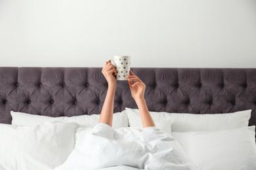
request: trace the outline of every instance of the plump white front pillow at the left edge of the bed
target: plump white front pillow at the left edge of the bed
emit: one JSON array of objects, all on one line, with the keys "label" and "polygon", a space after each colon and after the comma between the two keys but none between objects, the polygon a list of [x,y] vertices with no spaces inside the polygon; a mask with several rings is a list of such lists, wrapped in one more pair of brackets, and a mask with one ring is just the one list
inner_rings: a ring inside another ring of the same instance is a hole
[{"label": "plump white front pillow at the left edge of the bed", "polygon": [[76,123],[0,124],[0,169],[53,170],[75,147]]}]

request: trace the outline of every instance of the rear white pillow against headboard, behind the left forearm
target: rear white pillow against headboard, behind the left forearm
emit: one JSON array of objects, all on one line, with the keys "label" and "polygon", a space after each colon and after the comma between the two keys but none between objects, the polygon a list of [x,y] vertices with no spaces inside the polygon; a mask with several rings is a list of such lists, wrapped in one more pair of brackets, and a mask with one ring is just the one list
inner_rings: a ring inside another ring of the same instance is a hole
[{"label": "rear white pillow against headboard, behind the left forearm", "polygon": [[[96,124],[98,124],[98,120],[100,119],[100,114],[81,115],[72,117],[62,116],[54,118],[51,116],[41,116],[14,111],[11,111],[11,116],[12,124],[24,126],[35,126],[38,124],[42,124],[44,122],[58,120],[62,122],[77,122],[77,124],[79,124],[82,127],[94,127],[96,126]],[[114,113],[112,126],[114,128],[128,127],[128,117],[126,112]]]}]

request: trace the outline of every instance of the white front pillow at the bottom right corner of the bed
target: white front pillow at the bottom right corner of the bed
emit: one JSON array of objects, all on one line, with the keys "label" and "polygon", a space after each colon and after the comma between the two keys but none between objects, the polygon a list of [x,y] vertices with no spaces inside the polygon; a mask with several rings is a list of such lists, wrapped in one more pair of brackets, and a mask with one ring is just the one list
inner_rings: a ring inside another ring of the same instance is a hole
[{"label": "white front pillow at the bottom right corner of the bed", "polygon": [[256,169],[255,126],[172,135],[202,170]]}]

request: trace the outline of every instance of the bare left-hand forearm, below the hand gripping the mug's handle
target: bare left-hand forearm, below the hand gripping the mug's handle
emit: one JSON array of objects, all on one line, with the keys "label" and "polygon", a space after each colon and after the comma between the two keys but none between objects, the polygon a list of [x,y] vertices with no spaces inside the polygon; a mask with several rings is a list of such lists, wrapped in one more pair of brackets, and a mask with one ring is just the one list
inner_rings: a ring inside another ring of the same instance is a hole
[{"label": "bare left-hand forearm, below the hand gripping the mug's handle", "polygon": [[100,113],[99,123],[104,123],[112,126],[115,92],[116,84],[109,84],[104,105]]}]

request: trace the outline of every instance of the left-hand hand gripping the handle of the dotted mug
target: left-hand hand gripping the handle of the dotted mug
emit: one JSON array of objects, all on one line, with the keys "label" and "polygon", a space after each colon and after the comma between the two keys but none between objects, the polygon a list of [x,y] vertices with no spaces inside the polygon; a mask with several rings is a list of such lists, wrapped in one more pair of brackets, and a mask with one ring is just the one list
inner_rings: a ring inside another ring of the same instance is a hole
[{"label": "left-hand hand gripping the handle of the dotted mug", "polygon": [[116,67],[110,61],[104,63],[101,73],[105,76],[109,85],[116,85]]}]

